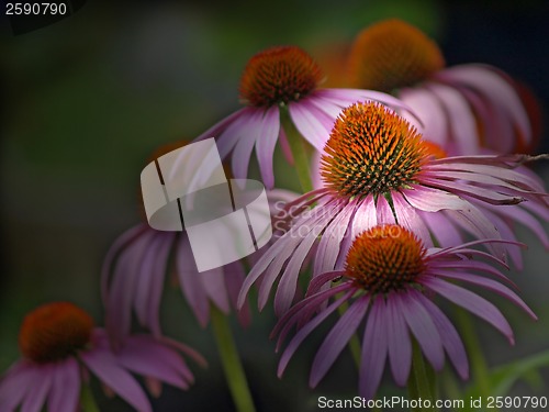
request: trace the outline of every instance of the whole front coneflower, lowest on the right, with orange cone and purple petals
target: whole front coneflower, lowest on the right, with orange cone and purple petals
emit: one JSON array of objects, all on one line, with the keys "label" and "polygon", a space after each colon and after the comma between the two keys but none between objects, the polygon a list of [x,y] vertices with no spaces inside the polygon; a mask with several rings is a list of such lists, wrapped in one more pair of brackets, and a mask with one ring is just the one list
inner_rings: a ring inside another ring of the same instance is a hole
[{"label": "whole front coneflower, lowest on the right, with orange cone and purple petals", "polygon": [[[279,335],[277,348],[293,326],[298,326],[281,356],[279,376],[306,336],[343,303],[348,303],[349,308],[316,353],[310,377],[312,387],[326,375],[357,332],[362,336],[358,382],[362,397],[374,397],[385,359],[389,359],[394,381],[400,386],[406,383],[412,365],[412,339],[418,343],[435,370],[441,370],[446,353],[458,375],[467,379],[469,366],[463,344],[450,320],[435,303],[436,296],[486,321],[511,344],[514,343],[513,332],[500,310],[464,286],[495,292],[536,319],[513,290],[492,278],[509,282],[500,270],[486,261],[464,257],[481,256],[503,264],[471,248],[477,243],[480,242],[427,249],[417,236],[399,225],[374,226],[359,234],[344,268],[323,271],[315,277],[306,298],[292,307],[276,325],[272,335]],[[362,324],[366,326],[360,332]]]}]

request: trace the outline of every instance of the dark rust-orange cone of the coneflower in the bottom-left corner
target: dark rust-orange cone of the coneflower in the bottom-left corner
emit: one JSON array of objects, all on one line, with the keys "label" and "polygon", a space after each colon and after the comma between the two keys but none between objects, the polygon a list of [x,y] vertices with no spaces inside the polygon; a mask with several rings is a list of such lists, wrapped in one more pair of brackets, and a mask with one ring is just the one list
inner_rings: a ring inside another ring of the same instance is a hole
[{"label": "dark rust-orange cone of the coneflower in the bottom-left corner", "polygon": [[38,363],[65,359],[89,343],[93,320],[69,302],[44,304],[23,320],[19,346],[26,358]]}]

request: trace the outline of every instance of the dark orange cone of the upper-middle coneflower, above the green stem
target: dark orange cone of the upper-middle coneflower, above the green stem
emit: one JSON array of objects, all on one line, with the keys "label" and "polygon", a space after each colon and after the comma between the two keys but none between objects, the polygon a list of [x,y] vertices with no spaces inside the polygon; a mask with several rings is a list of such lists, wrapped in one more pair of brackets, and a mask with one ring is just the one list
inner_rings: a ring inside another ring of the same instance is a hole
[{"label": "dark orange cone of the upper-middle coneflower, above the green stem", "polygon": [[323,74],[315,60],[295,46],[271,47],[256,54],[240,79],[240,99],[271,107],[296,101],[316,89]]}]

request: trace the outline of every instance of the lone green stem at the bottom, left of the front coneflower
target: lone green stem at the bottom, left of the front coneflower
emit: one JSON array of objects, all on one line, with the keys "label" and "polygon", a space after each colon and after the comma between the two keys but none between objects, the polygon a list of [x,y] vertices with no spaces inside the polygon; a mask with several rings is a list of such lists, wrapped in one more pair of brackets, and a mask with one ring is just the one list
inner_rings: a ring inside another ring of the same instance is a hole
[{"label": "lone green stem at the bottom, left of the front coneflower", "polygon": [[254,412],[254,401],[249,392],[244,368],[236,349],[228,319],[212,305],[212,327],[217,343],[225,379],[238,412]]}]

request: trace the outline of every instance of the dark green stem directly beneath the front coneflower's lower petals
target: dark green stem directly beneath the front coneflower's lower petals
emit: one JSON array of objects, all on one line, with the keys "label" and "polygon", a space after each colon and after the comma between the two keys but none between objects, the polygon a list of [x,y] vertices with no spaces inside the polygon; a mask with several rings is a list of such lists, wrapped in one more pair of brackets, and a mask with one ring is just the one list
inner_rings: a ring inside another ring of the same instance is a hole
[{"label": "dark green stem directly beneath the front coneflower's lower petals", "polygon": [[[413,341],[412,372],[408,378],[408,396],[411,400],[422,399],[423,408],[414,408],[414,411],[434,411],[436,401],[436,379],[433,368],[425,363],[419,345]],[[426,400],[430,401],[430,408],[426,407]]]}]

